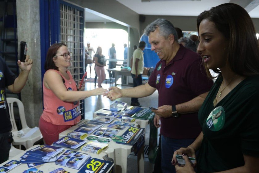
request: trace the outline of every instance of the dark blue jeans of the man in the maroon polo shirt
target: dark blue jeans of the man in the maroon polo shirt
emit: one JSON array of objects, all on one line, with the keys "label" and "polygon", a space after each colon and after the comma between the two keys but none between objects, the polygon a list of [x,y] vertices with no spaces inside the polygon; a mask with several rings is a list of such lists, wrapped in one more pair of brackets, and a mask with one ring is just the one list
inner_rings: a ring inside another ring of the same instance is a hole
[{"label": "dark blue jeans of the man in the maroon polo shirt", "polygon": [[186,148],[191,145],[194,140],[195,139],[172,139],[163,135],[161,136],[162,173],[175,173],[175,167],[171,163],[175,150],[181,147]]}]

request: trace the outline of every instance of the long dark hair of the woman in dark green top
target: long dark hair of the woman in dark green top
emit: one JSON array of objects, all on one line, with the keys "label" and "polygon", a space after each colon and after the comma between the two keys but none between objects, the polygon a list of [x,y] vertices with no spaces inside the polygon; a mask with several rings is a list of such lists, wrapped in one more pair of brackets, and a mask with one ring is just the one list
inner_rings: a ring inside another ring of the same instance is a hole
[{"label": "long dark hair of the woman in dark green top", "polygon": [[[216,28],[228,39],[227,61],[230,69],[241,76],[259,74],[259,45],[253,21],[244,8],[225,3],[202,12],[197,19],[197,28],[202,20],[215,23]],[[208,77],[212,78],[206,65]],[[219,69],[212,69],[220,73]]]}]

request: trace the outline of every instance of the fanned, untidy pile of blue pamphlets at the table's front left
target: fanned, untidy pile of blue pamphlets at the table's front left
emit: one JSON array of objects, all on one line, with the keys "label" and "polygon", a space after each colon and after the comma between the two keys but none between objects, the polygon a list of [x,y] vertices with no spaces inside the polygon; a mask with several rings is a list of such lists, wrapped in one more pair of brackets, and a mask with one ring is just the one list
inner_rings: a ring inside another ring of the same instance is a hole
[{"label": "fanned, untidy pile of blue pamphlets at the table's front left", "polygon": [[20,158],[22,163],[43,163],[43,162],[53,162],[56,160],[56,155],[61,153],[64,148],[41,145],[32,150],[27,151]]}]

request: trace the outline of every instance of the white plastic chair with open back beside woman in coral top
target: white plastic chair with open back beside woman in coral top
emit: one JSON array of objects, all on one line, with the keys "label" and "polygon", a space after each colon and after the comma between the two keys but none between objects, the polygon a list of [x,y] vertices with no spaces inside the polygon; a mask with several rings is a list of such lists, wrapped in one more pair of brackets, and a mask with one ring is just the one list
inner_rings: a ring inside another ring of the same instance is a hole
[{"label": "white plastic chair with open back beside woman in coral top", "polygon": [[[16,98],[11,98],[11,97],[7,97],[6,100],[7,100],[7,104],[9,107],[9,115],[10,115],[10,120],[11,120],[11,124],[12,124],[12,133],[13,133],[13,139],[14,139],[13,144],[14,145],[23,145],[26,149],[28,149],[28,148],[32,147],[36,141],[39,141],[40,139],[42,139],[43,136],[40,133],[40,130],[38,129],[30,137],[26,137],[26,138],[17,137],[18,129],[17,129],[15,120],[14,120],[14,103],[16,103],[18,105],[23,132],[26,134],[27,132],[29,132],[31,130],[31,128],[29,128],[26,123],[24,106],[23,106],[23,103],[21,102],[21,100],[16,99]],[[21,149],[21,146],[20,146],[20,149]]]}]

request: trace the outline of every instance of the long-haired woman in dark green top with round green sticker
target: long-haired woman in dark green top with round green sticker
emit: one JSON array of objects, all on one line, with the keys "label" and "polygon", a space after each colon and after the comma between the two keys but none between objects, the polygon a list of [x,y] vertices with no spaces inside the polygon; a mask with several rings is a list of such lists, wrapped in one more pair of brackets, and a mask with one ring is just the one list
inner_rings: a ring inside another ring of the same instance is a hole
[{"label": "long-haired woman in dark green top with round green sticker", "polygon": [[[219,75],[198,113],[202,132],[175,151],[172,163],[178,173],[195,172],[187,156],[199,150],[196,172],[259,172],[259,45],[253,22],[241,6],[227,3],[201,13],[197,27],[207,74],[212,78],[212,69]],[[183,155],[184,167],[176,154]]]}]

